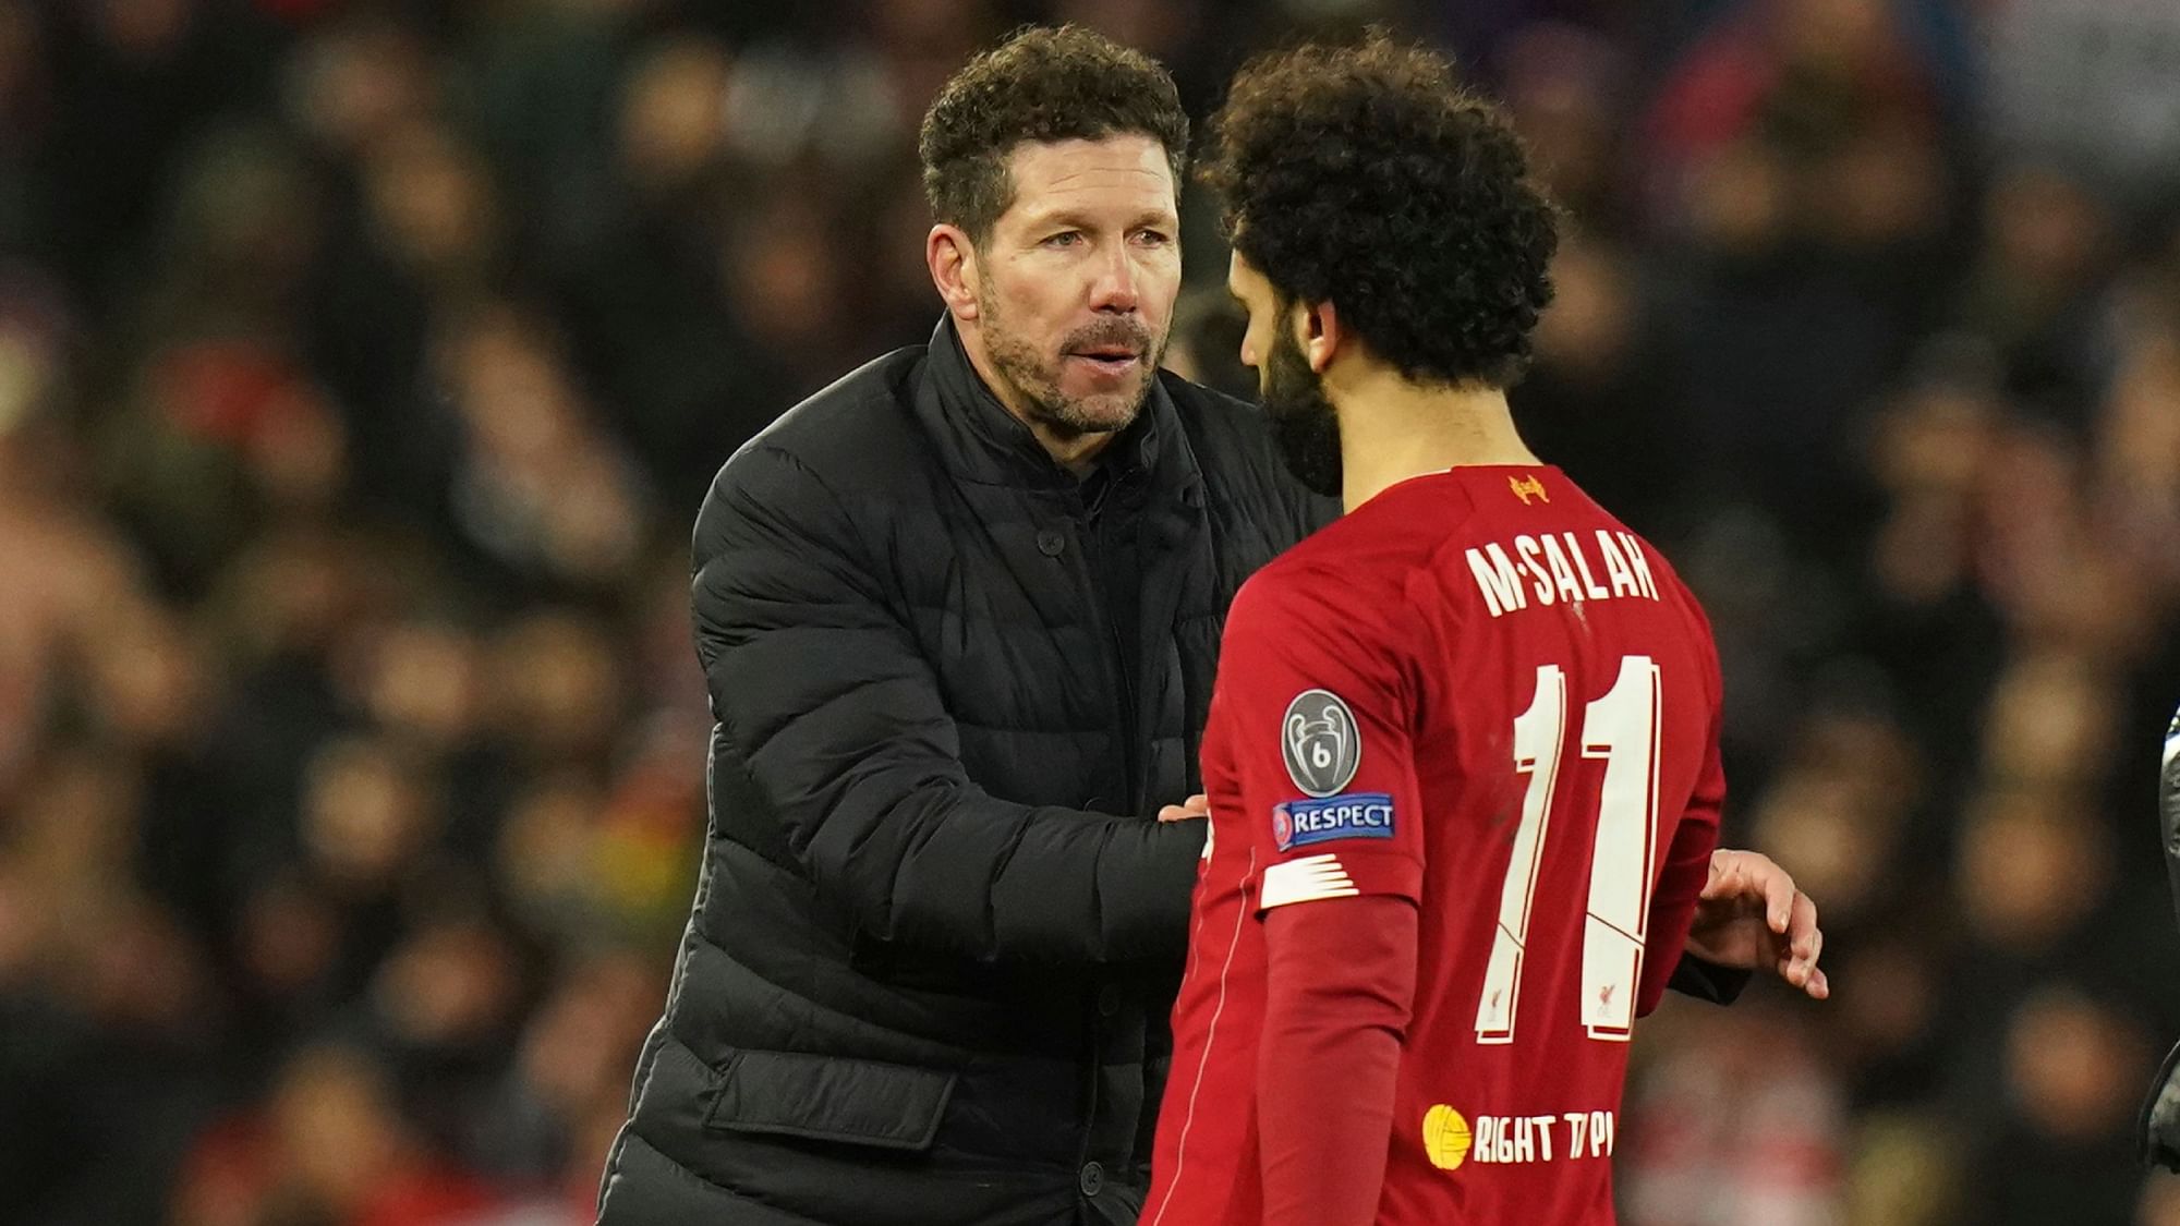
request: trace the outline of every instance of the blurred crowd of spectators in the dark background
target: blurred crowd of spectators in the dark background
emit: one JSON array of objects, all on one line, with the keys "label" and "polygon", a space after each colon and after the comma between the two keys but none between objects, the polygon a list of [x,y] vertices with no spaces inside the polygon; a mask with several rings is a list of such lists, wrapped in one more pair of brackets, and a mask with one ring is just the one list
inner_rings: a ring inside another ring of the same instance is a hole
[{"label": "blurred crowd of spectators in the dark background", "polygon": [[0,1219],[589,1219],[689,521],[929,336],[916,120],[1022,20],[1199,116],[1391,22],[1567,205],[1517,414],[1705,598],[1836,984],[1655,1019],[1626,1222],[2180,1224],[2169,0],[0,0]]}]

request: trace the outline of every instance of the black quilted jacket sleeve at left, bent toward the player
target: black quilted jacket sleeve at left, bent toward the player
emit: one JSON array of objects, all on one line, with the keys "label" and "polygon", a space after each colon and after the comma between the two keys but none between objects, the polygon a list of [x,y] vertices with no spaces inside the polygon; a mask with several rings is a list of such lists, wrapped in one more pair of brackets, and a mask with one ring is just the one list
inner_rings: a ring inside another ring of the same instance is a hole
[{"label": "black quilted jacket sleeve at left, bent toward the player", "polygon": [[713,716],[818,890],[931,953],[1179,960],[1201,822],[988,796],[879,574],[824,482],[763,443],[698,517]]}]

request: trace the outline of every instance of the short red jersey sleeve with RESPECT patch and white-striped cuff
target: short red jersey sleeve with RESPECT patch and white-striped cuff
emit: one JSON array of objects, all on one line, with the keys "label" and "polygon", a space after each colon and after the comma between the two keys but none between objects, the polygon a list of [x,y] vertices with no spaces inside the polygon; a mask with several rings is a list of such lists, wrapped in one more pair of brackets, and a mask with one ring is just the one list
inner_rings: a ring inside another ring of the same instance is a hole
[{"label": "short red jersey sleeve with RESPECT patch and white-striped cuff", "polygon": [[1232,833],[1264,866],[1260,914],[1358,894],[1419,901],[1424,888],[1417,652],[1400,624],[1341,600],[1334,582],[1269,572],[1227,617],[1221,705],[1243,827]]}]

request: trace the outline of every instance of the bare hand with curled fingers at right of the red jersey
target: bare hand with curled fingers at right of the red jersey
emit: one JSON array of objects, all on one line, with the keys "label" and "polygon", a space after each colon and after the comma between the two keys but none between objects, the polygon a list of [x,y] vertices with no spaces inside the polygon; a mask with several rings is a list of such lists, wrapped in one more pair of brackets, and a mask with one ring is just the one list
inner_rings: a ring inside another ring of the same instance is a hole
[{"label": "bare hand with curled fingers at right of the red jersey", "polygon": [[1794,888],[1785,868],[1757,851],[1711,853],[1711,879],[1696,903],[1687,951],[1742,971],[1768,966],[1818,1001],[1831,995],[1831,982],[1816,966],[1825,951],[1816,903]]}]

